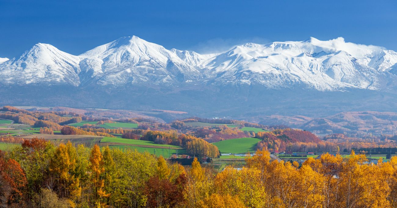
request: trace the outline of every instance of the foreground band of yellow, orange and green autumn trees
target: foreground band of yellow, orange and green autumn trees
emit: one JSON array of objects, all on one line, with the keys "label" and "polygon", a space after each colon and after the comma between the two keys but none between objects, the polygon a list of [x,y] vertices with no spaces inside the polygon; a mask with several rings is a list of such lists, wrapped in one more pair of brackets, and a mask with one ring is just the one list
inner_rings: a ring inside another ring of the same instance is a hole
[{"label": "foreground band of yellow, orange and green autumn trees", "polygon": [[397,206],[397,157],[324,154],[297,162],[256,151],[216,173],[137,151],[42,139],[0,152],[1,207],[361,208]]}]

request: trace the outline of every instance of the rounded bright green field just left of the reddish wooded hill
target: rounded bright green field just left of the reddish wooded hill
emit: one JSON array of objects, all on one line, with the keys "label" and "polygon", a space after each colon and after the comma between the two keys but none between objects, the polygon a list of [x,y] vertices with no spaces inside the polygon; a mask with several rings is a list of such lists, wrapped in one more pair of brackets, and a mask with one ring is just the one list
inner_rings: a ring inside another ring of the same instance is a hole
[{"label": "rounded bright green field just left of the reddish wooded hill", "polygon": [[254,153],[256,150],[256,143],[261,139],[257,138],[239,138],[239,139],[227,139],[212,143],[217,146],[221,153]]}]

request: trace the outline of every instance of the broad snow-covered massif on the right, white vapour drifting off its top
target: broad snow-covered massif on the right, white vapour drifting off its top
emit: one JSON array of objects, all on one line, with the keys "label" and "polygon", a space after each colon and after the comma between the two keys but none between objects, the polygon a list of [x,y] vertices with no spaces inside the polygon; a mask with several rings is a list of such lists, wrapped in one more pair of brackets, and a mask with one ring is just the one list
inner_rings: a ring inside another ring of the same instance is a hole
[{"label": "broad snow-covered massif on the right, white vapour drifting off its top", "polygon": [[214,83],[257,83],[268,88],[298,85],[316,90],[380,90],[397,53],[377,46],[320,41],[248,43],[206,60]]}]

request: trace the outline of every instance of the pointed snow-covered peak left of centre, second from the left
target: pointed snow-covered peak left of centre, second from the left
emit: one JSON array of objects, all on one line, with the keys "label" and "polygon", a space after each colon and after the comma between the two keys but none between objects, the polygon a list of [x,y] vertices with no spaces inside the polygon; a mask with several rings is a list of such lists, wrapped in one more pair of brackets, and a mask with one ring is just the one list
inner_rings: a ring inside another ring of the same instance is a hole
[{"label": "pointed snow-covered peak left of centre, second from the left", "polygon": [[81,80],[100,85],[175,84],[200,74],[175,53],[137,36],[119,38],[79,57]]}]

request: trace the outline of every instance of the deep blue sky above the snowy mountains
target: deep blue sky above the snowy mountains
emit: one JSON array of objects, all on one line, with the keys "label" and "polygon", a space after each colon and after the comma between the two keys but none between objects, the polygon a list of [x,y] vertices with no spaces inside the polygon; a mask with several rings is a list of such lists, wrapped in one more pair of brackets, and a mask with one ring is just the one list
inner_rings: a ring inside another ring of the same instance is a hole
[{"label": "deep blue sky above the snowy mountains", "polygon": [[397,51],[396,1],[0,0],[0,57],[38,42],[78,55],[121,36],[220,52],[245,42],[329,40]]}]

